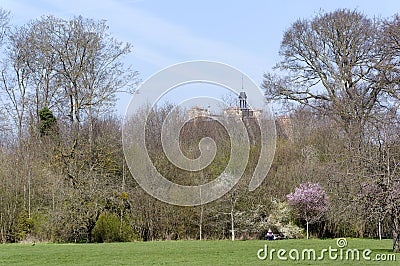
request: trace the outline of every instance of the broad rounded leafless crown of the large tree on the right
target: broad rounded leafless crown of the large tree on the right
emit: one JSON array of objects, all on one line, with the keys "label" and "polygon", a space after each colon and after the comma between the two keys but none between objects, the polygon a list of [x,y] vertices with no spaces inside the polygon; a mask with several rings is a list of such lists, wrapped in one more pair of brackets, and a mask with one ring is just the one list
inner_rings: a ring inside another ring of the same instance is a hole
[{"label": "broad rounded leafless crown of the large tree on the right", "polygon": [[361,135],[383,94],[374,82],[385,62],[379,31],[379,21],[346,9],[297,20],[284,33],[276,65],[287,75],[264,75],[267,97],[308,105]]}]

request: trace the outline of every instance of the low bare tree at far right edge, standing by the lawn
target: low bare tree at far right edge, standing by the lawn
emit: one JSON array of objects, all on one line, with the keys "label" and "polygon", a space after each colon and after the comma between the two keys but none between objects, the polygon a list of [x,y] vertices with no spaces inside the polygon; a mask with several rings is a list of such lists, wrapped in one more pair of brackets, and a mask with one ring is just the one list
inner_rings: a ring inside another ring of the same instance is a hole
[{"label": "low bare tree at far right edge, standing by the lawn", "polygon": [[396,112],[384,113],[369,126],[369,149],[360,154],[368,173],[360,190],[361,206],[372,220],[381,223],[388,217],[393,235],[393,251],[399,252],[400,238],[400,144],[397,137],[399,117]]}]

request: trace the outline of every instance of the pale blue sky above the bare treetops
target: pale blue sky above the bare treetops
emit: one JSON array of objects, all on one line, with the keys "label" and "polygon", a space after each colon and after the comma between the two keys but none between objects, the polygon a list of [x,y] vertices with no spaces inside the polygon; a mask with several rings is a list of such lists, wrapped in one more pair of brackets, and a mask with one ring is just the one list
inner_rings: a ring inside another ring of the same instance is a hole
[{"label": "pale blue sky above the bare treetops", "polygon": [[[369,17],[400,13],[398,0],[0,0],[0,7],[11,12],[13,25],[43,15],[105,19],[115,38],[132,43],[124,62],[139,71],[142,81],[173,64],[211,60],[239,69],[256,84],[279,61],[283,33],[297,19],[339,8]],[[119,95],[118,113],[129,100]]]}]

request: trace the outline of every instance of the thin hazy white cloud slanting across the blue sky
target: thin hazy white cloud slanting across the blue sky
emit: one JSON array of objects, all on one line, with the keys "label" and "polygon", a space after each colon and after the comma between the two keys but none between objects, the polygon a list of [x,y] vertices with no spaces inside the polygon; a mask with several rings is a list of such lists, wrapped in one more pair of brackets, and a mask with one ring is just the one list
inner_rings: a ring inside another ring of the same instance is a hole
[{"label": "thin hazy white cloud slanting across the blue sky", "polygon": [[[135,57],[157,69],[181,61],[207,59],[232,64],[245,71],[256,71],[257,75],[262,75],[261,66],[265,62],[251,51],[209,39],[207,36],[196,35],[190,28],[157,17],[135,6],[136,3],[115,0],[43,0],[39,2],[34,16],[37,16],[39,8],[43,13],[54,11],[54,15],[64,18],[82,15],[106,19],[113,35],[133,43]],[[24,2],[25,4],[27,3]]]}]

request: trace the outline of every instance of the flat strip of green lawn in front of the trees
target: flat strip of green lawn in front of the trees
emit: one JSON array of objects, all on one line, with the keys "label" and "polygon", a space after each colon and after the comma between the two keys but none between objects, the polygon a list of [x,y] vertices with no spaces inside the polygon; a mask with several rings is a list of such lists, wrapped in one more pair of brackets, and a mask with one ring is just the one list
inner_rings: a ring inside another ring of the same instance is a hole
[{"label": "flat strip of green lawn in front of the trees", "polygon": [[[347,239],[346,249],[371,249],[376,254],[393,254],[391,240]],[[315,249],[317,256],[324,248],[338,248],[336,240],[280,241],[163,241],[105,244],[6,244],[0,245],[0,265],[398,265],[395,262],[330,260],[281,261],[276,252],[273,260],[260,260],[257,251],[267,244],[271,249]],[[301,254],[301,253],[300,253]],[[268,254],[269,255],[269,254]],[[286,256],[288,254],[286,253]],[[301,256],[301,255],[300,255]]]}]

